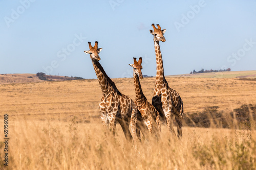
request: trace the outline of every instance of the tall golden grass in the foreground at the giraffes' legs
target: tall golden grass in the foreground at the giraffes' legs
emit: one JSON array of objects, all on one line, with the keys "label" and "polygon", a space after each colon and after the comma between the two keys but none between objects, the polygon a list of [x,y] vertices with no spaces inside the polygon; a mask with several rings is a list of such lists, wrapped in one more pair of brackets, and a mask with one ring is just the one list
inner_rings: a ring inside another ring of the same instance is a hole
[{"label": "tall golden grass in the foreground at the giraffes' legs", "polygon": [[[130,143],[120,128],[115,138],[99,121],[10,122],[10,169],[255,169],[254,130],[183,128],[183,138],[162,128],[153,137]],[[3,158],[3,144],[1,145]],[[3,163],[1,168],[3,168]]]}]

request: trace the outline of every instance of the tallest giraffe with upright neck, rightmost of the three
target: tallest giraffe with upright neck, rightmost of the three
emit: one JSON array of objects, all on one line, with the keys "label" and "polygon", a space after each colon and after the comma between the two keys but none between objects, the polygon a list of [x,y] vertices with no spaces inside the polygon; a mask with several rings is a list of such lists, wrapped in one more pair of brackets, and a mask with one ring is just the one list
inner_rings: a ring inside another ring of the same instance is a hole
[{"label": "tallest giraffe with upright neck, rightmost of the three", "polygon": [[163,34],[166,29],[161,30],[161,27],[157,25],[155,27],[152,24],[154,31],[150,30],[150,33],[154,36],[155,43],[155,53],[157,61],[157,74],[154,86],[154,94],[152,98],[152,105],[158,110],[161,117],[163,117],[164,122],[167,123],[167,129],[169,133],[175,134],[173,128],[173,118],[177,123],[178,137],[182,137],[182,119],[183,119],[183,102],[178,91],[169,87],[163,72],[163,60],[160,51],[159,41],[164,42],[165,38]]}]

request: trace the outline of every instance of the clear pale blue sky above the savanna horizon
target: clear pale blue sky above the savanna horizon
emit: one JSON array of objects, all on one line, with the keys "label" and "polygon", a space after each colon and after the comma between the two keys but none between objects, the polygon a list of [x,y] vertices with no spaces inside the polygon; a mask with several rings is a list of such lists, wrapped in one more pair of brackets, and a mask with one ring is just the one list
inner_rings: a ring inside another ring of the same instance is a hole
[{"label": "clear pale blue sky above the savanna horizon", "polygon": [[152,23],[159,23],[165,75],[255,70],[256,1],[0,1],[0,74],[46,72],[96,78],[88,41],[110,78],[156,75]]}]

